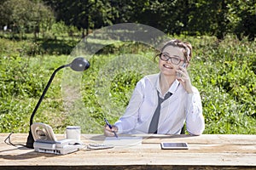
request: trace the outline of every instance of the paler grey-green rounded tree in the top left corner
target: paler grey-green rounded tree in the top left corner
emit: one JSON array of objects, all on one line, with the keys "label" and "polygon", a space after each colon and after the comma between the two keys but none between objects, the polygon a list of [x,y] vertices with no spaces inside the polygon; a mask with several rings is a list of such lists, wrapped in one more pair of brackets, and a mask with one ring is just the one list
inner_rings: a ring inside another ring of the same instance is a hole
[{"label": "paler grey-green rounded tree in the top left corner", "polygon": [[33,32],[38,37],[40,29],[49,28],[54,15],[43,3],[33,3],[29,0],[7,0],[0,5],[2,25],[7,24],[14,33]]}]

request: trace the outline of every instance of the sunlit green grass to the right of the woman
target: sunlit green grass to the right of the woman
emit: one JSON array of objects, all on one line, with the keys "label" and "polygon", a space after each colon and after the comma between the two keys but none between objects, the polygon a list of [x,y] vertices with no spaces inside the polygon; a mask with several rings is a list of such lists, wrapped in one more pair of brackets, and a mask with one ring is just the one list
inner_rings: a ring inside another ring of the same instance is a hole
[{"label": "sunlit green grass to the right of the woman", "polygon": [[255,42],[225,37],[203,43],[189,71],[201,91],[206,133],[255,133]]}]

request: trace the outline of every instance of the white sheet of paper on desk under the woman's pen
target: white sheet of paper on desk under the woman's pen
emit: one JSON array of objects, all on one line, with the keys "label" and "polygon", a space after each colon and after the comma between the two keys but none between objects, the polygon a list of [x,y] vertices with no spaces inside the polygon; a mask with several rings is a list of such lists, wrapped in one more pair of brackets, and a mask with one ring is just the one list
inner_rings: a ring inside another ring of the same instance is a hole
[{"label": "white sheet of paper on desk under the woman's pen", "polygon": [[106,137],[103,144],[113,144],[114,146],[142,145],[143,137]]}]

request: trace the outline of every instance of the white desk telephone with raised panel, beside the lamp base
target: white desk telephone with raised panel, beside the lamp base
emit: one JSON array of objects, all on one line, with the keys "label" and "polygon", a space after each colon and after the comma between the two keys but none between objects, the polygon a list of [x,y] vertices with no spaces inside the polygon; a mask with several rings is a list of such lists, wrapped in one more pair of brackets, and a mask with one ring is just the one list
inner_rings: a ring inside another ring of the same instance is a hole
[{"label": "white desk telephone with raised panel, beside the lamp base", "polygon": [[76,139],[57,140],[52,127],[48,124],[35,122],[32,124],[31,129],[35,140],[33,144],[35,151],[65,155],[84,148],[84,144]]}]

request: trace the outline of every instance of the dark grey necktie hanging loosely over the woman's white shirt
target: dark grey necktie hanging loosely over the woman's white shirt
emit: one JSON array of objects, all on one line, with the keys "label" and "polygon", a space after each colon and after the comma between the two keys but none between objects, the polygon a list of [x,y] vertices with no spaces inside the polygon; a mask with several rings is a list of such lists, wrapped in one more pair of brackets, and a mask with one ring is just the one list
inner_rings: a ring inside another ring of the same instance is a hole
[{"label": "dark grey necktie hanging loosely over the woman's white shirt", "polygon": [[165,95],[165,99],[161,99],[160,96],[159,96],[159,91],[157,91],[158,105],[157,105],[157,107],[154,111],[154,116],[152,117],[152,120],[150,122],[150,125],[149,125],[149,128],[148,128],[148,133],[157,133],[161,104],[163,103],[163,101],[168,99],[171,95],[172,95],[172,93],[168,92]]}]

